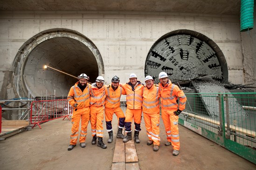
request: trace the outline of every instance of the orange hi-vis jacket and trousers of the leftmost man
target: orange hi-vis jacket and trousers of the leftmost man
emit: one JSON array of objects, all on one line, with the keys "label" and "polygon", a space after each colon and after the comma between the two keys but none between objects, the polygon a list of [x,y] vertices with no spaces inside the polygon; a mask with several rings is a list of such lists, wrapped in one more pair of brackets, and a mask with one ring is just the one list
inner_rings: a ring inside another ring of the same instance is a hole
[{"label": "orange hi-vis jacket and trousers of the leftmost man", "polygon": [[68,94],[68,101],[69,104],[74,107],[77,103],[78,105],[76,108],[74,107],[73,115],[72,115],[72,128],[71,128],[71,135],[70,135],[70,144],[75,145],[77,138],[78,138],[78,131],[79,131],[79,123],[81,119],[81,131],[80,131],[80,138],[79,142],[85,142],[86,135],[87,135],[87,126],[90,120],[90,88],[91,85],[87,83],[83,92],[77,86],[79,82],[76,82],[73,85]]}]

